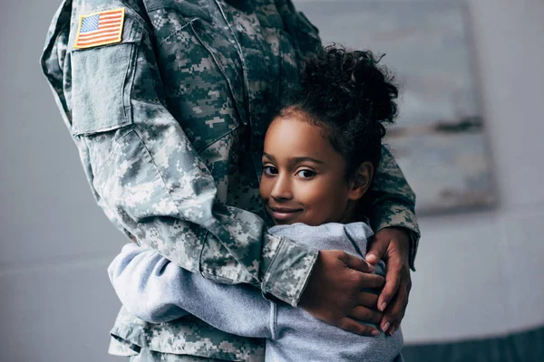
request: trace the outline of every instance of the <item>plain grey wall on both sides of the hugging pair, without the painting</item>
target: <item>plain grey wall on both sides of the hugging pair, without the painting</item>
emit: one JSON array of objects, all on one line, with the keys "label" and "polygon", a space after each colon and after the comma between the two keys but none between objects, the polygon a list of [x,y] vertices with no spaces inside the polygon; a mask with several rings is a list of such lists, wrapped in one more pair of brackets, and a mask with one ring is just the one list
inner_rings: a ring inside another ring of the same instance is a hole
[{"label": "plain grey wall on both sides of the hugging pair, without the painting", "polygon": [[[119,302],[105,268],[125,239],[94,204],[38,66],[57,5],[0,12],[0,360],[121,360],[106,354]],[[408,343],[544,324],[544,3],[469,5],[500,206],[421,220]]]}]

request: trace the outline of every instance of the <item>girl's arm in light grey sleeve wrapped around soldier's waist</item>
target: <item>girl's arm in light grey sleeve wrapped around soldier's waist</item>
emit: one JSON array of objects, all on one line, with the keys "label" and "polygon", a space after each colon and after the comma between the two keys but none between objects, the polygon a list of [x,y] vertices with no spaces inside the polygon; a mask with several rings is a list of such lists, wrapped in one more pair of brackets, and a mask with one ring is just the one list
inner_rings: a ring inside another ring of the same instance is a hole
[{"label": "girl's arm in light grey sleeve wrapped around soldier's waist", "polygon": [[249,285],[224,285],[170,262],[151,248],[126,244],[108,267],[119,299],[151,323],[192,314],[238,336],[275,338],[273,303]]}]

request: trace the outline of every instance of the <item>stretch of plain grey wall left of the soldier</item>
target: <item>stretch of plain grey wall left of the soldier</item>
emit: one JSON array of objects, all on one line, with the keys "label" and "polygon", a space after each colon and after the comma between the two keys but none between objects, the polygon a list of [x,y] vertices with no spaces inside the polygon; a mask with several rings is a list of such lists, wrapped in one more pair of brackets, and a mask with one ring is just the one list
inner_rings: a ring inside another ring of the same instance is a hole
[{"label": "stretch of plain grey wall left of the soldier", "polygon": [[[7,4],[5,4],[7,3]],[[108,361],[124,238],[94,204],[39,66],[58,0],[0,12],[0,361]]]}]

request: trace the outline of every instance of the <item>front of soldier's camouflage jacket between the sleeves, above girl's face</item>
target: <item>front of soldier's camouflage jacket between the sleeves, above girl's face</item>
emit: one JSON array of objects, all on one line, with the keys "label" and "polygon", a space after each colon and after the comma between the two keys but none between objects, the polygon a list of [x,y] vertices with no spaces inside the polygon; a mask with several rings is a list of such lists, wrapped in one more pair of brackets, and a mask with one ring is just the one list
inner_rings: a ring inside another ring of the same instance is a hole
[{"label": "front of soldier's camouflage jacket between the sleeves, above girl's face", "polygon": [[264,134],[296,83],[293,44],[273,3],[150,3],[168,107],[196,148],[240,126]]}]

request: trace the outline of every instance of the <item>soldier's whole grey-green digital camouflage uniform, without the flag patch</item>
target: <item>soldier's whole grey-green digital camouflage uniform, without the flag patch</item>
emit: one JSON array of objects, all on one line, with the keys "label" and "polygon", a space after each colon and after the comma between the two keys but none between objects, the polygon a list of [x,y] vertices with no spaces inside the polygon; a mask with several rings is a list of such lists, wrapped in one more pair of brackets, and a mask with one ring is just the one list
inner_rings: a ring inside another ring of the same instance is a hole
[{"label": "soldier's whole grey-green digital camouflage uniform, without the flag patch", "polygon": [[[80,15],[120,7],[120,43],[74,49]],[[251,283],[295,306],[316,252],[266,233],[258,176],[277,98],[296,86],[297,64],[320,46],[290,0],[64,0],[42,66],[113,224],[182,268]],[[374,230],[412,231],[412,265],[414,199],[385,151]],[[124,309],[110,350],[168,361],[260,361],[264,353],[261,340],[196,318],[151,325]]]}]

